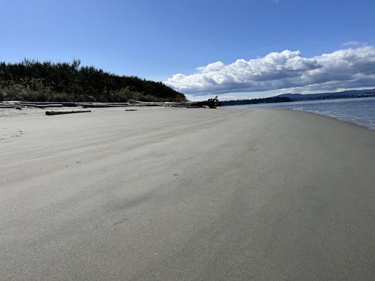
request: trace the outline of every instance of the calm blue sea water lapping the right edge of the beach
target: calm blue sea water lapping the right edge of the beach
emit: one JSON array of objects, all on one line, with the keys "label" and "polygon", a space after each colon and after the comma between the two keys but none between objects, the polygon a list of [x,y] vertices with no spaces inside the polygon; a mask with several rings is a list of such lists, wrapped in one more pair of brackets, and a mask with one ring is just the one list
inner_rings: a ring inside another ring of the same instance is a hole
[{"label": "calm blue sea water lapping the right edge of the beach", "polygon": [[[231,106],[233,108],[233,106]],[[349,121],[375,130],[375,98],[329,99],[319,101],[294,101],[292,103],[263,103],[256,105],[236,105],[235,108],[290,108],[322,114]]]}]

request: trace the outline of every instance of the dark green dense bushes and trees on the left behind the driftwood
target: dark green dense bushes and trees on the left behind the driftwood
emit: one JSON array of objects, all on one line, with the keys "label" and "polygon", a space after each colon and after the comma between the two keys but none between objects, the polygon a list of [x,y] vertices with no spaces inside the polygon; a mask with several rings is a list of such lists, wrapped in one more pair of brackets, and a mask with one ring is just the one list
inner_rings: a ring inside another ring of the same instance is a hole
[{"label": "dark green dense bushes and trees on the left behind the driftwood", "polygon": [[0,101],[186,101],[161,82],[72,62],[0,62]]}]

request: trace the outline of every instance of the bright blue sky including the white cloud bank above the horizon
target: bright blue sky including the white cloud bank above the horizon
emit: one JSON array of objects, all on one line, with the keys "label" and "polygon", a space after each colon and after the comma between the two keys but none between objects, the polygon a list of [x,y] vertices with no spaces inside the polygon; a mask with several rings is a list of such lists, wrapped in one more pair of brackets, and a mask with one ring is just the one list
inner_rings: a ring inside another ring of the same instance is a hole
[{"label": "bright blue sky including the white cloud bank above the horizon", "polygon": [[190,100],[375,88],[374,0],[0,0],[0,61],[71,62]]}]

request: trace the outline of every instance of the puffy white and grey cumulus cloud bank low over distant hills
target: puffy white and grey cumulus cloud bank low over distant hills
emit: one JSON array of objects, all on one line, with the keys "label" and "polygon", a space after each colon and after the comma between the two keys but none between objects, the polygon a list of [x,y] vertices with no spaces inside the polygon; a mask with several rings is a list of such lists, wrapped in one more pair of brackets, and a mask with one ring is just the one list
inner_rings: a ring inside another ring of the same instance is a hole
[{"label": "puffy white and grey cumulus cloud bank low over distant hills", "polygon": [[239,59],[230,65],[213,62],[191,75],[175,74],[165,84],[184,94],[226,94],[299,88],[335,90],[375,85],[375,48],[342,49],[313,58],[300,51]]}]

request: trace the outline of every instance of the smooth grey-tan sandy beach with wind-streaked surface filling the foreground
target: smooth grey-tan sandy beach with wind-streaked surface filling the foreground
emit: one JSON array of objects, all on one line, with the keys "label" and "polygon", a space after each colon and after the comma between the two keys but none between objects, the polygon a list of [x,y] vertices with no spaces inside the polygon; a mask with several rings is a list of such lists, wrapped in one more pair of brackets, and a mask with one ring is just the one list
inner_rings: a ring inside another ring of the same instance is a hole
[{"label": "smooth grey-tan sandy beach with wind-streaked surface filling the foreground", "polygon": [[0,280],[374,280],[374,167],[306,112],[0,117]]}]

